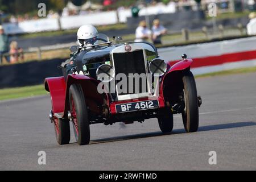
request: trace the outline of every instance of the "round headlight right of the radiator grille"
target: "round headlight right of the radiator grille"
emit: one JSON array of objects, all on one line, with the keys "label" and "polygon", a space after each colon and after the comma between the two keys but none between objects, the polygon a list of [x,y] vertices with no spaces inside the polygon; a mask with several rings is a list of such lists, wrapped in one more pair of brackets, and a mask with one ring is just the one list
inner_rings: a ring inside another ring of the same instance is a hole
[{"label": "round headlight right of the radiator grille", "polygon": [[153,76],[163,76],[167,71],[167,64],[162,59],[153,59],[148,65],[148,69]]}]

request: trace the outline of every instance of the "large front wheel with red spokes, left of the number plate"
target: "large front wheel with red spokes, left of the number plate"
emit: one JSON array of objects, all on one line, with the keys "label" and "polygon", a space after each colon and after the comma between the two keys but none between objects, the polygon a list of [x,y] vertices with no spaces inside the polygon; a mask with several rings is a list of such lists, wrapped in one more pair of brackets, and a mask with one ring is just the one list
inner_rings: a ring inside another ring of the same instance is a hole
[{"label": "large front wheel with red spokes, left of the number plate", "polygon": [[90,126],[81,85],[73,84],[69,88],[69,105],[77,143],[80,145],[89,144]]}]

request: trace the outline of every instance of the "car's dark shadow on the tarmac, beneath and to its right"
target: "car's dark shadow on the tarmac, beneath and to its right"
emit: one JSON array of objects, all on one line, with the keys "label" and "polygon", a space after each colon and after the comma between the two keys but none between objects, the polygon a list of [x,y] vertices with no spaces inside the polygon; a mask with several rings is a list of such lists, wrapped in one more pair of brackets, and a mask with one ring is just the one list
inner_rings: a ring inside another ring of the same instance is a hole
[{"label": "car's dark shadow on the tarmac, beneath and to its right", "polygon": [[[255,125],[256,125],[256,122],[250,121],[250,122],[225,123],[225,124],[220,124],[220,125],[200,126],[199,130],[197,132],[232,129],[232,128],[236,128],[236,127],[246,127],[246,126],[255,126]],[[160,137],[160,136],[164,136],[164,135],[174,135],[174,134],[182,134],[182,133],[185,133],[184,129],[173,130],[171,133],[162,133],[162,132],[158,131],[158,132],[135,134],[135,135],[125,135],[125,136],[121,136],[121,137],[110,137],[110,138],[96,139],[96,140],[91,140],[90,144],[117,142],[117,141],[121,141],[121,140],[138,139],[138,138]]]}]

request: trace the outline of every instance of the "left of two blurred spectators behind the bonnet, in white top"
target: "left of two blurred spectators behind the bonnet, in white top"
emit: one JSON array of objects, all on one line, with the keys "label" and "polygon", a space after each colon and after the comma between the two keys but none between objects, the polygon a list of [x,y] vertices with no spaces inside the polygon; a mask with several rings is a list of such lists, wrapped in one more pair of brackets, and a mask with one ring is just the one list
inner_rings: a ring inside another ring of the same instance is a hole
[{"label": "left of two blurred spectators behind the bonnet, in white top", "polygon": [[135,37],[135,42],[143,42],[147,39],[151,39],[151,31],[147,28],[145,20],[139,22],[139,27],[136,29]]}]

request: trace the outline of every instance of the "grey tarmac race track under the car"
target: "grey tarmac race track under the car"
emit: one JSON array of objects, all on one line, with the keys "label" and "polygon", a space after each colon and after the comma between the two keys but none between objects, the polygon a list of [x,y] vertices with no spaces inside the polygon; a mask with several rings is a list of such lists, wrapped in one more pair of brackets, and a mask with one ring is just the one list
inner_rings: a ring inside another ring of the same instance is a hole
[{"label": "grey tarmac race track under the car", "polygon": [[[49,96],[0,102],[0,169],[225,170],[256,169],[256,73],[197,78],[203,98],[197,133],[185,133],[180,115],[163,135],[156,119],[91,125],[88,146],[59,146],[49,122]],[[38,152],[46,152],[46,165]],[[209,151],[217,164],[210,165]]]}]

